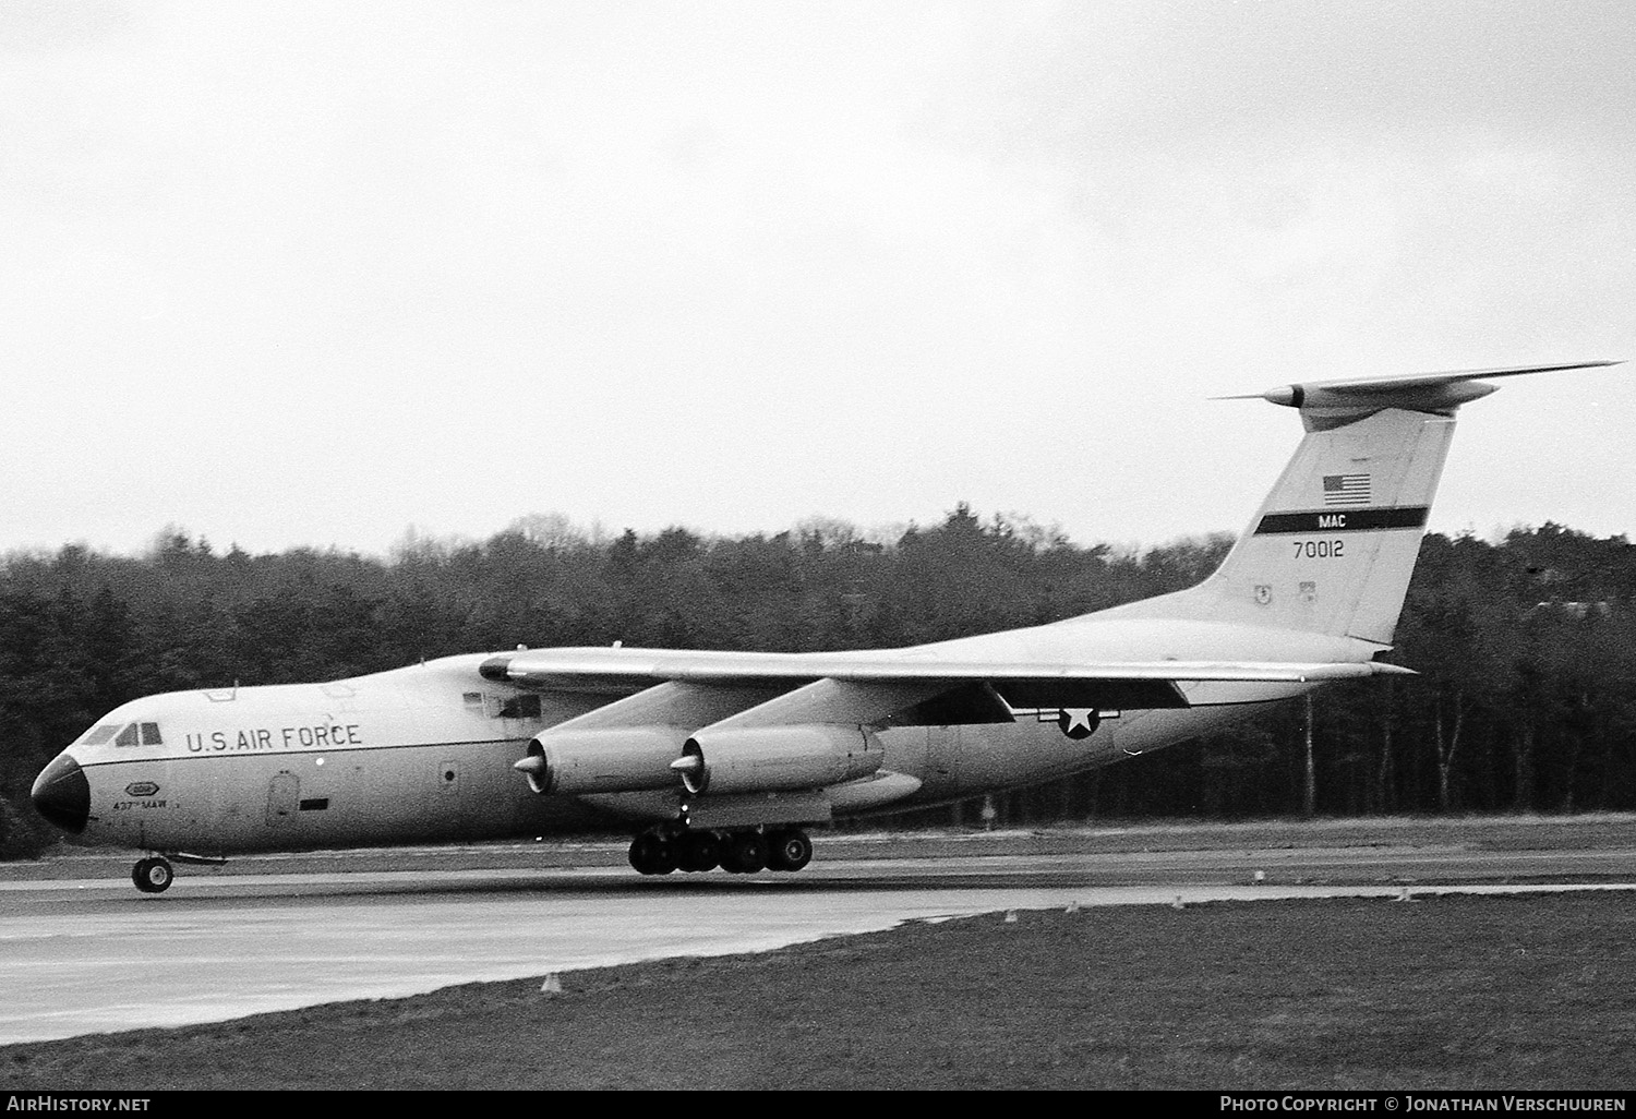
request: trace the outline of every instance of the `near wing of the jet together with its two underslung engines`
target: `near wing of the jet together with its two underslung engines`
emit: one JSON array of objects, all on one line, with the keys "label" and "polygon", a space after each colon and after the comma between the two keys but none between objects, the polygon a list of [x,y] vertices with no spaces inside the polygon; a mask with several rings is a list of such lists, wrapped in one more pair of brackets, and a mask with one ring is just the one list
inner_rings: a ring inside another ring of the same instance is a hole
[{"label": "near wing of the jet together with its two underslung engines", "polygon": [[524,649],[481,664],[489,681],[610,700],[533,736],[517,769],[535,792],[649,818],[671,813],[705,828],[828,820],[913,795],[918,777],[883,767],[877,731],[885,726],[1009,723],[1014,708],[1027,707],[1186,707],[1188,682],[1306,684],[1391,671],[1407,669],[1373,661],[960,661],[928,649]]}]

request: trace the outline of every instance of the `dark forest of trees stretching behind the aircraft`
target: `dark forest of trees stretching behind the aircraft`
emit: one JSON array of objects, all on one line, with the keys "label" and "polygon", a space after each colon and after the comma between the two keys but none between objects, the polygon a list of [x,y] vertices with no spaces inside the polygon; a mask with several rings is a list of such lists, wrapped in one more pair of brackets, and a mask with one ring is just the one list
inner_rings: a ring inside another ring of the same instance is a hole
[{"label": "dark forest of trees stretching behind the aircraft", "polygon": [[[484,542],[407,533],[384,558],[226,551],[167,528],[141,556],[83,545],[0,560],[0,857],[56,841],[38,771],[139,695],[326,681],[517,645],[890,648],[990,633],[1175,591],[1230,535],[1076,545],[959,506],[862,533],[586,530],[530,515]],[[1286,815],[1636,808],[1636,555],[1562,525],[1427,535],[1397,646],[1414,677],[1310,703],[1103,771],[993,798],[1000,825]],[[978,823],[982,802],[895,823]]]}]

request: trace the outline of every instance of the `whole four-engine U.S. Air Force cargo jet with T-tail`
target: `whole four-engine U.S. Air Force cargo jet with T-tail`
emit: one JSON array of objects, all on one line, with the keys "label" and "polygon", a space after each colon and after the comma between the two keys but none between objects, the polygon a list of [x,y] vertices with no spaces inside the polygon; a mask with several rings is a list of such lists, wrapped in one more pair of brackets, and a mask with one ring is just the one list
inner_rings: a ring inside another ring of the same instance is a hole
[{"label": "whole four-engine U.S. Air Force cargo jet with T-tail", "polygon": [[[641,874],[800,870],[807,828],[1029,785],[1194,738],[1378,659],[1459,406],[1613,362],[1289,384],[1294,458],[1188,591],[861,653],[519,648],[124,703],[33,787],[136,887],[227,854],[633,834]],[[1252,399],[1252,398],[1229,398]]]}]

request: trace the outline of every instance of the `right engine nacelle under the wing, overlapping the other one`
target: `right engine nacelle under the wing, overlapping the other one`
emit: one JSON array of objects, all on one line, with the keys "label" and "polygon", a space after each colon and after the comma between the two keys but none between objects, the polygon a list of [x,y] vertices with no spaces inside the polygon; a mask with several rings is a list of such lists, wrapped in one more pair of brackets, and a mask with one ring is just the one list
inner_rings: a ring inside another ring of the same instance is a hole
[{"label": "right engine nacelle under the wing, overlapping the other one", "polygon": [[700,731],[672,769],[690,793],[818,789],[880,769],[885,748],[862,726],[811,723]]}]

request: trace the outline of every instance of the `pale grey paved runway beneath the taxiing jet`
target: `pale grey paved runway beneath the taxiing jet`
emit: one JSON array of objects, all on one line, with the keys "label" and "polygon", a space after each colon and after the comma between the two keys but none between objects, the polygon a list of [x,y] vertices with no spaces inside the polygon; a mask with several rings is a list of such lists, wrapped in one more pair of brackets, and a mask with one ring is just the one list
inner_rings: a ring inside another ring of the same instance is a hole
[{"label": "pale grey paved runway beneath the taxiing jet", "polygon": [[[1636,852],[1625,846],[831,846],[833,856],[795,875],[663,879],[618,865],[617,844],[582,844],[553,865],[538,865],[540,851],[527,844],[398,856],[448,864],[465,852],[468,862],[497,864],[468,869],[324,869],[375,854],[249,859],[237,874],[183,870],[164,895],[136,893],[105,870],[69,877],[101,864],[69,861],[61,877],[49,875],[51,864],[29,864],[33,874],[0,875],[0,1044],[757,952],[996,910],[1636,888],[1628,882]],[[910,852],[895,854],[900,847]]]}]

